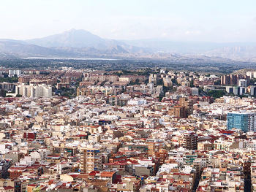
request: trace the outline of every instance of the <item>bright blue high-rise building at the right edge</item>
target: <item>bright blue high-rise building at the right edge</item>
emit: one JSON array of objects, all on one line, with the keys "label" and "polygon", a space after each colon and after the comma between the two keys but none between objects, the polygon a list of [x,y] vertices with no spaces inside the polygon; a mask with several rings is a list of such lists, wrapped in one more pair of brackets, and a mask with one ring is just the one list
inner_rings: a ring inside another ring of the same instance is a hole
[{"label": "bright blue high-rise building at the right edge", "polygon": [[230,112],[227,114],[227,129],[238,128],[241,131],[256,131],[255,112]]}]

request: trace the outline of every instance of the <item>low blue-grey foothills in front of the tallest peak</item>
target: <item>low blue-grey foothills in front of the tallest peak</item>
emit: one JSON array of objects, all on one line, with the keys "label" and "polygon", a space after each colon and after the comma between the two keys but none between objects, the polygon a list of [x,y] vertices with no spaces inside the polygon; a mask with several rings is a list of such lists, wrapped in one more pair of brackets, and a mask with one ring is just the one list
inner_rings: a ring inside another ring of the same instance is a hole
[{"label": "low blue-grey foothills in front of the tallest peak", "polygon": [[[114,41],[111,41],[114,42]],[[105,45],[106,46],[106,45]],[[23,58],[23,57],[99,57],[121,58],[132,57],[129,51],[140,51],[140,48],[115,45],[109,47],[42,47],[28,41],[12,39],[0,39],[0,58]],[[132,53],[134,54],[134,53]]]}]

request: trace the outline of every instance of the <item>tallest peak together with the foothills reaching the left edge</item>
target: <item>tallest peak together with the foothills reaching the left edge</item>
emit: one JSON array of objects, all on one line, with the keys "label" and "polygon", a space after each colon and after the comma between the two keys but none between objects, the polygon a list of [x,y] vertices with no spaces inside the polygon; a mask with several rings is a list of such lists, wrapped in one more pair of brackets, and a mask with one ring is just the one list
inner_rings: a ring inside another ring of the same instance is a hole
[{"label": "tallest peak together with the foothills reaching the left edge", "polygon": [[0,58],[9,57],[121,57],[145,53],[146,49],[113,39],[102,39],[89,31],[65,31],[24,41],[0,39]]}]

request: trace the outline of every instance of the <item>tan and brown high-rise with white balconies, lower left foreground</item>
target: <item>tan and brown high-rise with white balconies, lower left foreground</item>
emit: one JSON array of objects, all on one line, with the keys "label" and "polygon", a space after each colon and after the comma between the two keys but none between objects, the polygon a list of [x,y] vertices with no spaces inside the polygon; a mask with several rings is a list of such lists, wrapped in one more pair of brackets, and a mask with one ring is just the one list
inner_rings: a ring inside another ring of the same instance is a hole
[{"label": "tan and brown high-rise with white balconies, lower left foreground", "polygon": [[80,170],[90,173],[102,169],[102,147],[88,146],[81,149]]}]

